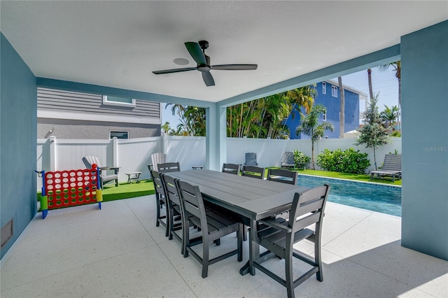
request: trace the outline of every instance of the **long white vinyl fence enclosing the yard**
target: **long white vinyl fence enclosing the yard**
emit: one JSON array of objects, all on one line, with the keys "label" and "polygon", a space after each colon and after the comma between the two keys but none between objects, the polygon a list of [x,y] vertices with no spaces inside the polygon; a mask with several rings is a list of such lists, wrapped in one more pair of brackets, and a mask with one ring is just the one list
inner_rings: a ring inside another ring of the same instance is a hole
[{"label": "long white vinyl fence enclosing the yard", "polygon": [[[377,148],[377,165],[383,162],[388,152],[401,153],[401,138],[392,138],[392,143]],[[342,150],[354,148],[367,152],[370,158],[370,171],[374,169],[373,150],[364,146],[353,146],[354,139],[321,139],[314,143],[314,155],[325,148]],[[299,150],[311,157],[310,140],[274,140],[274,139],[227,139],[227,162],[244,164],[246,152],[257,154],[258,166],[280,166],[283,152]],[[81,160],[86,155],[99,158],[101,166],[119,166],[118,180],[127,180],[125,173],[141,171],[141,178],[149,178],[148,164],[155,152],[165,152],[167,162],[180,162],[182,170],[192,169],[192,166],[205,165],[205,137],[196,136],[158,136],[141,139],[112,140],[71,140],[49,139],[37,140],[36,170],[63,171],[84,169]],[[38,190],[41,190],[41,179],[37,180]]]}]

